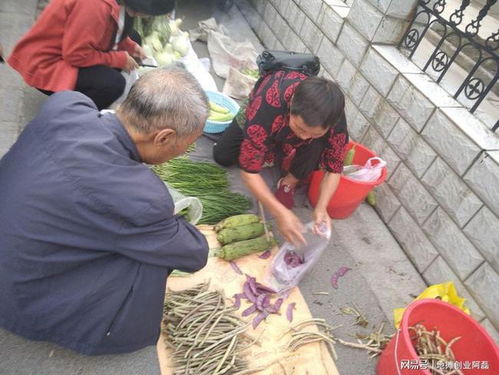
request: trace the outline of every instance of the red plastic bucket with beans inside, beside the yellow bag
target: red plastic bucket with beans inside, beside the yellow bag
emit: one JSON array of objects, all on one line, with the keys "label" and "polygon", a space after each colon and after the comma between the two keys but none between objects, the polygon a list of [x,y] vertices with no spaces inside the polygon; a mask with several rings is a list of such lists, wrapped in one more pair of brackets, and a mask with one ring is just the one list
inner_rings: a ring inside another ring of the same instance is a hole
[{"label": "red plastic bucket with beans inside, beside the yellow bag", "polygon": [[[381,353],[378,375],[431,375],[429,370],[417,368],[422,366],[409,335],[409,327],[417,323],[428,330],[437,329],[446,342],[461,337],[452,345],[452,350],[457,363],[463,365],[463,374],[499,374],[499,348],[481,325],[447,302],[422,299],[412,302],[405,310],[400,329]],[[411,361],[416,368],[407,368]],[[468,365],[475,368],[464,369]]]}]

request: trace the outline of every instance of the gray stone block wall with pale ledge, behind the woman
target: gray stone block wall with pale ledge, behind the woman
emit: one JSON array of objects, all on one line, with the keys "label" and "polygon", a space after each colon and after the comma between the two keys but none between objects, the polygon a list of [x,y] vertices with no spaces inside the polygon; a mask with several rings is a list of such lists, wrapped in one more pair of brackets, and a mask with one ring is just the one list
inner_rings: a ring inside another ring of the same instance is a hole
[{"label": "gray stone block wall with pale ledge, behind the woman", "polygon": [[454,281],[498,340],[499,138],[394,46],[416,1],[235,3],[267,48],[320,57],[352,139],[388,162],[381,219],[426,282]]}]

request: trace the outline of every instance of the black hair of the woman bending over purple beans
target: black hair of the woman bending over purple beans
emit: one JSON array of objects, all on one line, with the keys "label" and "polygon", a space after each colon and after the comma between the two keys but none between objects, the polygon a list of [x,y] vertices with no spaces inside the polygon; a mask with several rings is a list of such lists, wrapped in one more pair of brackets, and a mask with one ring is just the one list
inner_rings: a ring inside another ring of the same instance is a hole
[{"label": "black hair of the woman bending over purple beans", "polygon": [[310,77],[296,87],[291,114],[301,116],[308,126],[329,129],[343,114],[345,96],[339,86],[325,78]]}]

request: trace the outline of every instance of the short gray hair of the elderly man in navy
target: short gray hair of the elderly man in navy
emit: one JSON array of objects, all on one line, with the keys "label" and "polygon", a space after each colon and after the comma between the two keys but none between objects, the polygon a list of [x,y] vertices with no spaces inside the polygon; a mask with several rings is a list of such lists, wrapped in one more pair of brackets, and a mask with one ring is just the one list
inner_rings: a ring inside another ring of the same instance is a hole
[{"label": "short gray hair of the elderly man in navy", "polygon": [[184,137],[204,126],[208,98],[185,69],[154,69],[135,82],[117,112],[140,133],[170,128]]}]

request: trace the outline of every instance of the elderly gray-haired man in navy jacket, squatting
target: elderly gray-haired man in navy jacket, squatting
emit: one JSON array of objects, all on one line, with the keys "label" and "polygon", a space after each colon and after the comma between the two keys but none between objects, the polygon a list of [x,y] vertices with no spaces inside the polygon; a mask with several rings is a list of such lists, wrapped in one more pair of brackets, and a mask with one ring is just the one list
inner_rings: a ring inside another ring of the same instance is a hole
[{"label": "elderly gray-haired man in navy jacket, squatting", "polygon": [[156,343],[169,272],[204,267],[208,245],[143,163],[185,152],[207,115],[181,69],[144,75],[116,114],[45,102],[0,161],[0,327],[84,354]]}]

